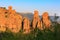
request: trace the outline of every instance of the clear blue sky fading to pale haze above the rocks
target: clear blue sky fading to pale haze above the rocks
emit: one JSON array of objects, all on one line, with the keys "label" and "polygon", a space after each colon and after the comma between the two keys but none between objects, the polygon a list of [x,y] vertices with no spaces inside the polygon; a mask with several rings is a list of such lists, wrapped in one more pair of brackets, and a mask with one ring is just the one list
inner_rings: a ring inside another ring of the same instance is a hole
[{"label": "clear blue sky fading to pale haze above the rocks", "polygon": [[60,16],[60,0],[0,0],[1,7],[13,6],[18,12],[32,12],[37,9],[39,14],[47,11],[49,15]]}]

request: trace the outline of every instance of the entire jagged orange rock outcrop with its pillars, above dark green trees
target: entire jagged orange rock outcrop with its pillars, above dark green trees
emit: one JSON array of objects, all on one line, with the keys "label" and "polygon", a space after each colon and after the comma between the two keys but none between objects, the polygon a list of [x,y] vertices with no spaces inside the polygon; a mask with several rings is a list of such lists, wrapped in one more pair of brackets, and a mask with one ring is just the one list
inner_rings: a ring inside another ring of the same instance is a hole
[{"label": "entire jagged orange rock outcrop with its pillars, above dark green trees", "polygon": [[44,30],[45,28],[49,29],[50,25],[51,21],[48,12],[44,12],[42,20],[40,20],[39,12],[35,10],[31,23],[27,17],[22,17],[17,14],[16,11],[12,9],[12,6],[9,6],[8,9],[0,8],[0,32],[5,32],[8,29],[12,33],[18,33],[23,27],[23,33],[26,34],[30,33],[31,28],[35,29],[37,27],[40,30]]}]

